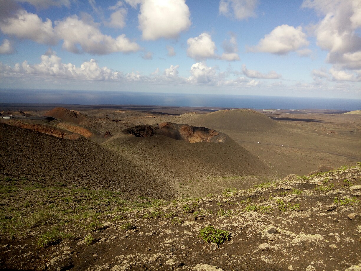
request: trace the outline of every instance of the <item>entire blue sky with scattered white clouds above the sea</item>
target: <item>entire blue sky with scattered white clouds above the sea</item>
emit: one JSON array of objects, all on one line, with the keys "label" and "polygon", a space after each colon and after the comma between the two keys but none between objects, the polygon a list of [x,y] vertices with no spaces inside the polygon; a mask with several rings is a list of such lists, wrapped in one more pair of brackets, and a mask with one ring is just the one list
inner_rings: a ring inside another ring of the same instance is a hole
[{"label": "entire blue sky with scattered white clouds above the sea", "polygon": [[0,89],[361,98],[361,0],[0,0]]}]

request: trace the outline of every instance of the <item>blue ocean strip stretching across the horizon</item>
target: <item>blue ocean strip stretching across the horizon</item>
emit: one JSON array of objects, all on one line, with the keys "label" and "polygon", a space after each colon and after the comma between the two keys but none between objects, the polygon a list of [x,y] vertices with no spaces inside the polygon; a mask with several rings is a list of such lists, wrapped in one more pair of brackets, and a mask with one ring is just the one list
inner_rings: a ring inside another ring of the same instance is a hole
[{"label": "blue ocean strip stretching across the horizon", "polygon": [[136,104],[255,109],[361,110],[361,99],[79,90],[0,90],[0,103]]}]

